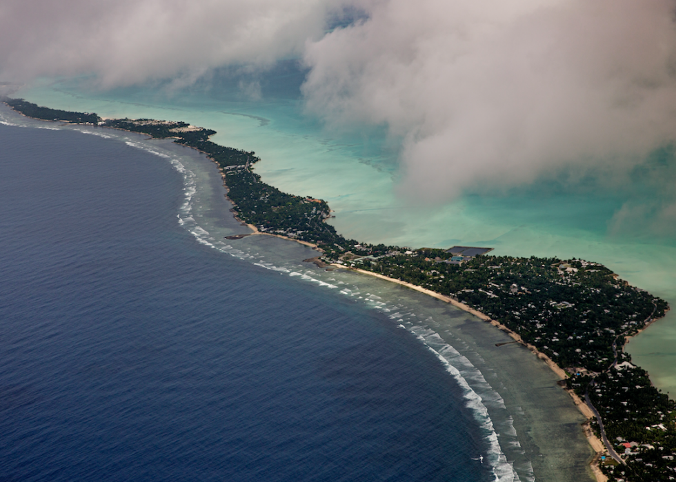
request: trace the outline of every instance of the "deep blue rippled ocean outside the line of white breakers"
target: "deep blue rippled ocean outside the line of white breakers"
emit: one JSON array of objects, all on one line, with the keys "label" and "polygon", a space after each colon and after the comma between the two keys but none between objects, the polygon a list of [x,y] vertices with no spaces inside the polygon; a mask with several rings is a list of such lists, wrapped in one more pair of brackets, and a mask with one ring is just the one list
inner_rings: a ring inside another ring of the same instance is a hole
[{"label": "deep blue rippled ocean outside the line of white breakers", "polygon": [[488,481],[439,359],[203,245],[161,157],[0,125],[0,481]]}]

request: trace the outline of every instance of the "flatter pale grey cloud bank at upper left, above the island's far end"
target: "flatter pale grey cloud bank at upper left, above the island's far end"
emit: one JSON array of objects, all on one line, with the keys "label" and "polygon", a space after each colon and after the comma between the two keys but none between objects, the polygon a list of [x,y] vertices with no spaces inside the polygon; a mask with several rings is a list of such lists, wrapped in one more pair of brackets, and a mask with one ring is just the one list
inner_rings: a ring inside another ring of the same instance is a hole
[{"label": "flatter pale grey cloud bank at upper left, above the island's far end", "polygon": [[95,73],[103,88],[195,79],[228,63],[299,54],[332,0],[3,0],[0,75]]}]

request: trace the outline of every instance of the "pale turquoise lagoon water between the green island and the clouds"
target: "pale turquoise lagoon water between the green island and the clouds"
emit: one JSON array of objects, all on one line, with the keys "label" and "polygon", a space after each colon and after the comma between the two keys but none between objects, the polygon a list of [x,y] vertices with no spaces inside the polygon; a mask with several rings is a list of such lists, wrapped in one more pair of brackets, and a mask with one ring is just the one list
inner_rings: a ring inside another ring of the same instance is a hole
[{"label": "pale turquoise lagoon water between the green island and the clouds", "polygon": [[[604,263],[630,283],[676,303],[676,231],[653,237],[639,223],[611,234],[613,217],[630,201],[626,192],[580,194],[542,182],[508,194],[469,194],[444,205],[414,203],[397,195],[397,140],[378,129],[324,130],[303,113],[302,79],[292,62],[281,64],[257,80],[261,99],[241,94],[241,78],[228,72],[181,90],[146,86],[98,92],[88,88],[88,79],[68,79],[43,80],[19,94],[54,108],[181,119],[213,128],[215,141],[255,150],[262,159],[257,172],[268,183],[326,199],[335,210],[332,223],[347,237],[580,257]],[[659,388],[676,393],[675,312],[633,339],[628,351]]]}]

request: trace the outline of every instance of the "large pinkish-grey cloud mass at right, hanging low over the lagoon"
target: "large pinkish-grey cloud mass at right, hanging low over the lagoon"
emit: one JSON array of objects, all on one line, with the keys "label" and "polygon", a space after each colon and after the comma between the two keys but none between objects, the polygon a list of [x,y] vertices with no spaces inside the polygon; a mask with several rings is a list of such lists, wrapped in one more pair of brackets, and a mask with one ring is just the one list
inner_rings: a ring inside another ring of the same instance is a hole
[{"label": "large pinkish-grey cloud mass at right, hanging low over the lagoon", "polygon": [[405,137],[404,190],[443,200],[561,168],[628,172],[676,136],[675,3],[390,0],[308,44],[334,122]]}]

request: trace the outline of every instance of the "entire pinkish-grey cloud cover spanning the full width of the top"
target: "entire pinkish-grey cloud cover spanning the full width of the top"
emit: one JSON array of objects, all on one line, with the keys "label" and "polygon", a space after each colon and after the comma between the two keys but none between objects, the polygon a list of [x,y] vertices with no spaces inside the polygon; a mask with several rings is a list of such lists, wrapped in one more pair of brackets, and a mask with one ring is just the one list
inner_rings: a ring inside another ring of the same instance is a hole
[{"label": "entire pinkish-grey cloud cover spanning the full width of the top", "polygon": [[[366,17],[326,33],[350,6]],[[3,0],[0,81],[190,82],[297,56],[308,113],[386,125],[405,139],[404,190],[444,201],[561,170],[626,181],[675,137],[675,12],[671,0]]]}]

